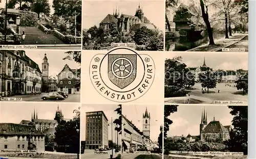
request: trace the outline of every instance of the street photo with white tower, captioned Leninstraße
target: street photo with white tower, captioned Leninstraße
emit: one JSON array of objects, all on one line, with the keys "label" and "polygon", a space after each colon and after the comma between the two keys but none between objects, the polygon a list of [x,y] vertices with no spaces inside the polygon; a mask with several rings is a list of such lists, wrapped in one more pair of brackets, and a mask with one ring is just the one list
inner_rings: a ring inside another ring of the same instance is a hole
[{"label": "street photo with white tower, captioned Leninstra\u00dfe", "polygon": [[122,105],[122,158],[162,158],[163,107]]}]

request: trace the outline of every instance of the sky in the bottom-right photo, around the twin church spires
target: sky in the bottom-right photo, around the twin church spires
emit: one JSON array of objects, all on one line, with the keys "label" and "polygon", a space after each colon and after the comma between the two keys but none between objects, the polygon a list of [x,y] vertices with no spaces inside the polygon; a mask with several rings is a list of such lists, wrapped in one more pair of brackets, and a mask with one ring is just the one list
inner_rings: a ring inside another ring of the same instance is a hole
[{"label": "sky in the bottom-right photo, around the twin church spires", "polygon": [[173,120],[173,124],[170,125],[167,136],[199,135],[199,124],[204,108],[207,111],[208,123],[215,116],[215,120],[220,121],[223,126],[231,125],[233,116],[229,113],[231,109],[228,109],[226,105],[179,105],[178,111],[169,116],[169,119]]}]

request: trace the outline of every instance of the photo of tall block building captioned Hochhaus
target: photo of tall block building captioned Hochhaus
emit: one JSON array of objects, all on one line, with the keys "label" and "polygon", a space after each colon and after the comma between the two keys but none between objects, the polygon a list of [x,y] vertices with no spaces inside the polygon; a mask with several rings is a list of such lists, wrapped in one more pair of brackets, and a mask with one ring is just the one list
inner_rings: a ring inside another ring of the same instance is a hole
[{"label": "photo of tall block building captioned Hochhaus", "polygon": [[122,105],[82,104],[81,159],[121,158]]}]

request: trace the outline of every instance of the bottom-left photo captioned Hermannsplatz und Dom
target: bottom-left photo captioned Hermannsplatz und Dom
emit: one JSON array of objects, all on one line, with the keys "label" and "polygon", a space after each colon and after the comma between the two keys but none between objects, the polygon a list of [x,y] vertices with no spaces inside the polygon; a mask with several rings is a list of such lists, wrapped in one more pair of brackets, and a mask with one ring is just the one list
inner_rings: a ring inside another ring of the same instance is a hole
[{"label": "bottom-left photo captioned Hermannsplatz und Dom", "polygon": [[79,159],[80,104],[11,106],[2,102],[0,107],[0,158]]}]

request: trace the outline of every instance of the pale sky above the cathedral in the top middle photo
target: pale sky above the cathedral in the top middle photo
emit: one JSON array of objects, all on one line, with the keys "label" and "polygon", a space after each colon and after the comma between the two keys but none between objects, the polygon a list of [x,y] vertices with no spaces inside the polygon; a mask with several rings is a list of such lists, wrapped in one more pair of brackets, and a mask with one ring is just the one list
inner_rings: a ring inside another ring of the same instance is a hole
[{"label": "pale sky above the cathedral in the top middle photo", "polygon": [[[136,1],[136,0],[120,0],[120,1],[83,1],[83,29],[89,29],[92,26],[99,26],[99,23],[108,14],[113,15],[113,9],[117,6],[120,9],[120,14],[135,15],[138,6],[142,7],[144,16],[150,20],[160,30],[164,30],[165,25],[165,7],[164,1]],[[118,12],[118,9],[117,9]]]}]

